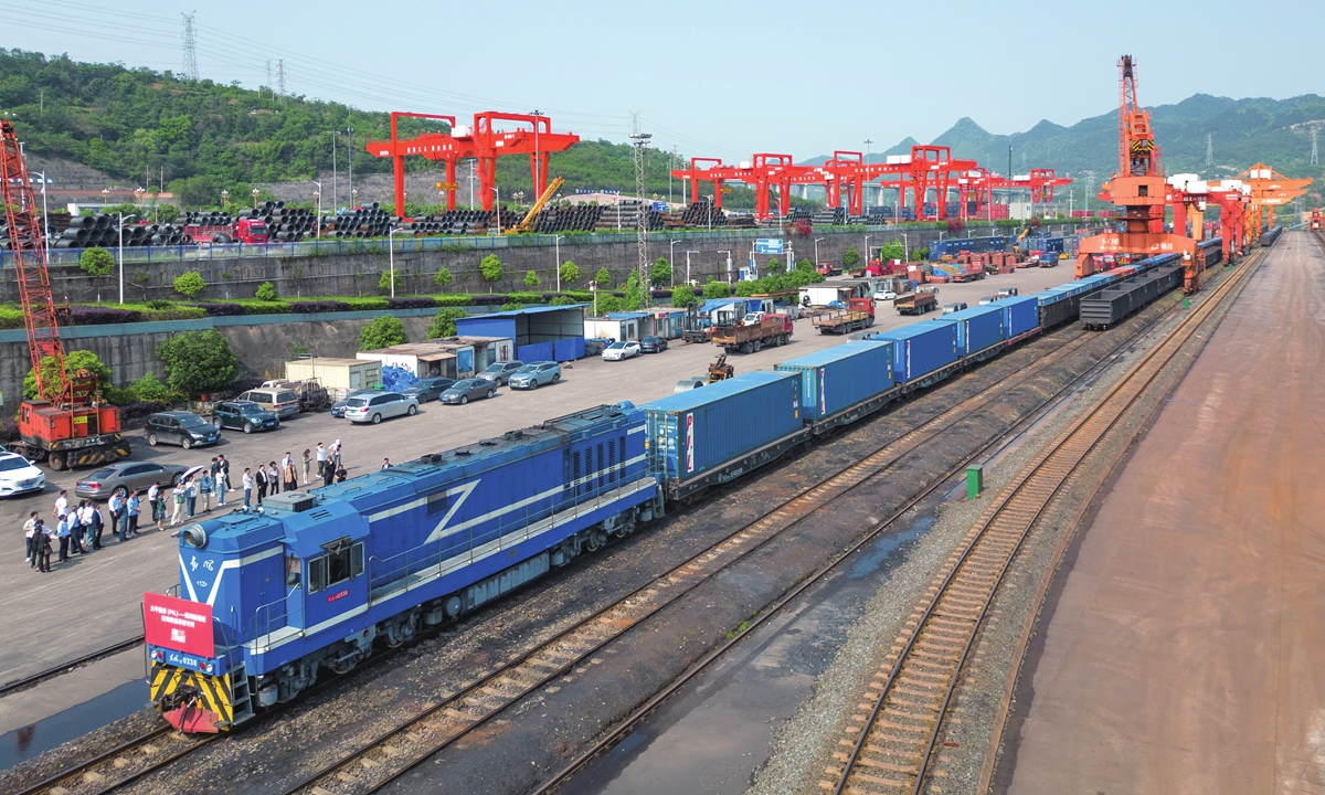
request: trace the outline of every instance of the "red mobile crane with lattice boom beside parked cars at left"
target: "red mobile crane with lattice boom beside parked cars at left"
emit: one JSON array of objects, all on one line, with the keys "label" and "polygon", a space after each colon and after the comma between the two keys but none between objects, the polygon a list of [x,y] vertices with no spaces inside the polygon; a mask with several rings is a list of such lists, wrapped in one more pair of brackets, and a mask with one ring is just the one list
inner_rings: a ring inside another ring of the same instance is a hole
[{"label": "red mobile crane with lattice boom beside parked cars at left", "polygon": [[19,407],[23,441],[13,447],[33,461],[48,460],[57,470],[123,458],[129,456],[129,444],[119,436],[119,409],[102,404],[95,375],[83,370],[65,372],[65,348],[46,270],[46,241],[41,237],[19,138],[8,119],[0,119],[0,204],[37,379],[37,398]]}]

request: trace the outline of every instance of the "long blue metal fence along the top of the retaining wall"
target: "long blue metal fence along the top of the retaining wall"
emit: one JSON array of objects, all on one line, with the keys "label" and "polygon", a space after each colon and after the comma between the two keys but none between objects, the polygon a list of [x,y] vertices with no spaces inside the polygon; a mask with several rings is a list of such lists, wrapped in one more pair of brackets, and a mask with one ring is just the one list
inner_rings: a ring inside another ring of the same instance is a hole
[{"label": "long blue metal fence along the top of the retaining wall", "polygon": [[[861,232],[897,232],[905,225],[896,227],[852,227],[841,229],[844,233]],[[649,232],[651,242],[672,241],[714,241],[714,240],[755,240],[759,237],[782,237],[783,231],[778,228],[766,229],[676,229]],[[633,242],[635,231],[623,229],[620,232],[571,232],[567,235],[473,235],[465,237],[395,237],[391,245],[396,253],[412,252],[466,252],[484,249],[510,249],[527,246],[553,246],[560,237],[562,245],[603,245],[610,242]],[[126,246],[126,264],[144,262],[197,262],[205,260],[236,260],[245,257],[337,257],[346,254],[386,254],[387,238],[376,237],[371,240],[359,238],[323,238],[301,240],[298,242],[258,242],[258,244],[216,244],[200,242],[192,245],[154,245],[154,246]],[[111,246],[109,249],[118,249]],[[50,265],[78,265],[82,249],[50,249],[46,252],[46,262]],[[0,266],[13,268],[13,252],[0,252]]]}]

